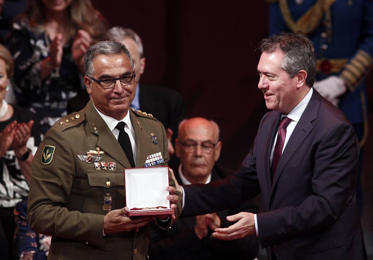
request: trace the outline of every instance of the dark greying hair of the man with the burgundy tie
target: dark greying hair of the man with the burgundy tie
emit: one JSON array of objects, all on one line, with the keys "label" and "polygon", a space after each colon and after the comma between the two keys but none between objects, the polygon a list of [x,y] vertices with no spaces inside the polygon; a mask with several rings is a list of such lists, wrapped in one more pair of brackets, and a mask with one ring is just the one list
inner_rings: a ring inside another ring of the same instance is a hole
[{"label": "dark greying hair of the man with the burgundy tie", "polygon": [[281,68],[288,73],[289,78],[292,79],[300,70],[305,70],[305,84],[311,88],[316,75],[316,53],[310,39],[303,34],[283,32],[260,41],[261,53],[273,53],[277,49],[284,53]]}]

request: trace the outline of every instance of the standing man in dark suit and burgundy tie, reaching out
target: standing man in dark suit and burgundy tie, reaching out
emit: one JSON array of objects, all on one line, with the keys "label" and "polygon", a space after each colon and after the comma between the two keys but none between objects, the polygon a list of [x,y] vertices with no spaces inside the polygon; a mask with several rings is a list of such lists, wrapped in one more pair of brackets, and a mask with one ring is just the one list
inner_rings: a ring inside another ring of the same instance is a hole
[{"label": "standing man in dark suit and burgundy tie, reaching out", "polygon": [[[270,112],[241,168],[225,180],[184,186],[184,216],[225,209],[260,193],[265,212],[229,216],[223,240],[255,235],[268,259],[367,259],[355,197],[359,145],[345,115],[311,86],[312,42],[264,39],[258,88]],[[179,188],[179,187],[177,187]]]}]

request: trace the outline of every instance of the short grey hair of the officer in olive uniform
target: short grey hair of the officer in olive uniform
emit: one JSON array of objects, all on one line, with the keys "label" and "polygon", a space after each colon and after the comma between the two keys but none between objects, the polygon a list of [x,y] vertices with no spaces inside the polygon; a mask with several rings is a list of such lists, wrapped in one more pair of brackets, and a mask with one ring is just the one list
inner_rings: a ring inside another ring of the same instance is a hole
[{"label": "short grey hair of the officer in olive uniform", "polygon": [[115,41],[100,41],[96,44],[93,44],[88,50],[85,52],[84,55],[84,69],[85,69],[85,76],[93,77],[94,69],[93,69],[93,60],[95,57],[99,55],[106,55],[106,56],[113,56],[117,54],[125,54],[129,58],[129,62],[131,63],[132,71],[134,71],[134,62],[132,61],[131,54],[127,47]]}]

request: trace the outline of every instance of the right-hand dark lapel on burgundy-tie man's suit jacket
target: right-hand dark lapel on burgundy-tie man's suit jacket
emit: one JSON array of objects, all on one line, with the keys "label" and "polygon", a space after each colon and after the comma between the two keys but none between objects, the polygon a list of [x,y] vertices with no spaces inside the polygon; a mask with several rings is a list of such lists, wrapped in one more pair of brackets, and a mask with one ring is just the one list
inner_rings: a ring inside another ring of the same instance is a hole
[{"label": "right-hand dark lapel on burgundy-tie man's suit jacket", "polygon": [[[280,157],[279,163],[277,165],[275,179],[272,184],[271,196],[273,195],[274,187],[278,182],[283,169],[286,164],[289,162],[294,153],[298,150],[300,145],[304,142],[305,138],[310,134],[313,129],[312,121],[317,118],[321,102],[321,96],[317,91],[313,91],[310,102],[308,102],[307,107],[305,108],[300,120],[297,123],[288,143],[283,150],[283,153]],[[283,173],[283,174],[286,174]]]}]

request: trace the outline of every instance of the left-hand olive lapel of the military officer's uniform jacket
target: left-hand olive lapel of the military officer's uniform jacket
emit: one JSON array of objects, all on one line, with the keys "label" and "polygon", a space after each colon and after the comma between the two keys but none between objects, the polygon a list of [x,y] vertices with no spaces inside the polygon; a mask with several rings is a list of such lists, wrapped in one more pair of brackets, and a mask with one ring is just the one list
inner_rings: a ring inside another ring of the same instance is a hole
[{"label": "left-hand olive lapel of the military officer's uniform jacket", "polygon": [[[85,107],[84,114],[87,118],[90,132],[98,136],[97,146],[116,159],[124,167],[130,168],[131,165],[123,152],[122,147],[119,145],[118,140],[116,140],[103,118],[97,113],[91,100]],[[93,124],[95,124],[95,127],[97,128],[97,133],[95,133]]]}]

